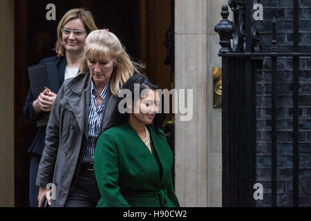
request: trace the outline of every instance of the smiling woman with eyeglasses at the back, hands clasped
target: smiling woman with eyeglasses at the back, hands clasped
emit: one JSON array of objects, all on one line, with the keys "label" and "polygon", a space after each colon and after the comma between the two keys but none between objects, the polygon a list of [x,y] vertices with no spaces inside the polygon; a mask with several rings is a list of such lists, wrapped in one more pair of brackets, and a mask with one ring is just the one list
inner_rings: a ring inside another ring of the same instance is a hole
[{"label": "smiling woman with eyeglasses at the back, hands clasped", "polygon": [[[55,62],[57,73],[53,73],[62,85],[64,79],[75,77],[79,71],[83,48],[88,33],[97,30],[93,15],[83,8],[75,8],[66,12],[57,26],[57,41],[55,50],[57,56],[42,59],[39,64]],[[23,115],[30,121],[42,122],[48,116],[57,97],[57,91],[44,90],[39,97],[32,97],[29,89],[28,97],[23,105]],[[47,120],[46,120],[47,121]],[[37,124],[38,131],[35,140],[28,149],[30,160],[30,206],[38,206],[39,186],[36,186],[36,177],[39,162],[45,146],[46,124]],[[39,206],[42,206],[39,204]]]}]

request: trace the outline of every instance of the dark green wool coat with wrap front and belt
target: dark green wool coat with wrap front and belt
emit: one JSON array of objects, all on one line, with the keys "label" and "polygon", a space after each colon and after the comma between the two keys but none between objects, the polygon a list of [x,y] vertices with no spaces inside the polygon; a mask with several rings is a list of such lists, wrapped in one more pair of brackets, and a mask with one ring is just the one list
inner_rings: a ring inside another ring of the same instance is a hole
[{"label": "dark green wool coat with wrap front and belt", "polygon": [[151,126],[149,131],[153,153],[128,122],[100,135],[94,155],[101,194],[97,207],[179,206],[171,177],[173,153],[164,135]]}]

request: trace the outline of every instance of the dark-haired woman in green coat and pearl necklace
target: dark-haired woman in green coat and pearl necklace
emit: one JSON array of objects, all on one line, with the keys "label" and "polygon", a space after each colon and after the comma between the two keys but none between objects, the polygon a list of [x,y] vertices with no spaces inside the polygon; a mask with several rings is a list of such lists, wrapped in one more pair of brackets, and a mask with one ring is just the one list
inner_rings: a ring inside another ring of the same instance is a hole
[{"label": "dark-haired woman in green coat and pearl necklace", "polygon": [[100,135],[95,148],[97,206],[179,206],[171,177],[173,153],[160,130],[165,117],[158,113],[157,89],[144,75],[133,75],[122,87],[116,123]]}]

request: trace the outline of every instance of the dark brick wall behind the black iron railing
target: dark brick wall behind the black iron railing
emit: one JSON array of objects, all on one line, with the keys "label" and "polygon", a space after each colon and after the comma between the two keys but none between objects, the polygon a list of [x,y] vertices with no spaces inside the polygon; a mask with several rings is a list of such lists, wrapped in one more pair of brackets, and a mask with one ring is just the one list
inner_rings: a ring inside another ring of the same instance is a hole
[{"label": "dark brick wall behind the black iron railing", "polygon": [[[277,20],[278,52],[292,52],[292,0],[258,0],[263,21],[261,51],[270,52],[272,18]],[[299,0],[299,50],[311,52],[311,0]],[[277,205],[292,206],[292,58],[277,61]],[[271,59],[256,72],[256,180],[264,188],[257,206],[271,206]],[[311,206],[311,58],[299,59],[299,206]]]}]

